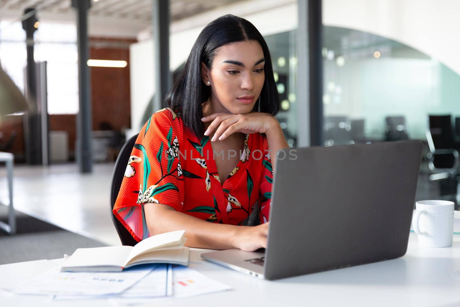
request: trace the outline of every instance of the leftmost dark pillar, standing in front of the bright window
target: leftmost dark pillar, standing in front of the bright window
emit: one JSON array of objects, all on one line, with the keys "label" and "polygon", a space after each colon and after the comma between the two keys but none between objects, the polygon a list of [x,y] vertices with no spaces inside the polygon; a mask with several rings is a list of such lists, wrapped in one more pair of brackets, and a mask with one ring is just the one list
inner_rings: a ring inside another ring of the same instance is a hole
[{"label": "leftmost dark pillar, standing in front of the bright window", "polygon": [[[31,13],[32,12],[32,13]],[[34,33],[37,30],[34,8],[27,8],[24,14],[32,14],[23,20],[23,29],[26,32],[27,67],[25,70],[25,90],[29,111],[24,116],[24,140],[26,161],[29,164],[41,164],[41,122],[40,110],[37,105],[37,80],[34,60]]]}]

